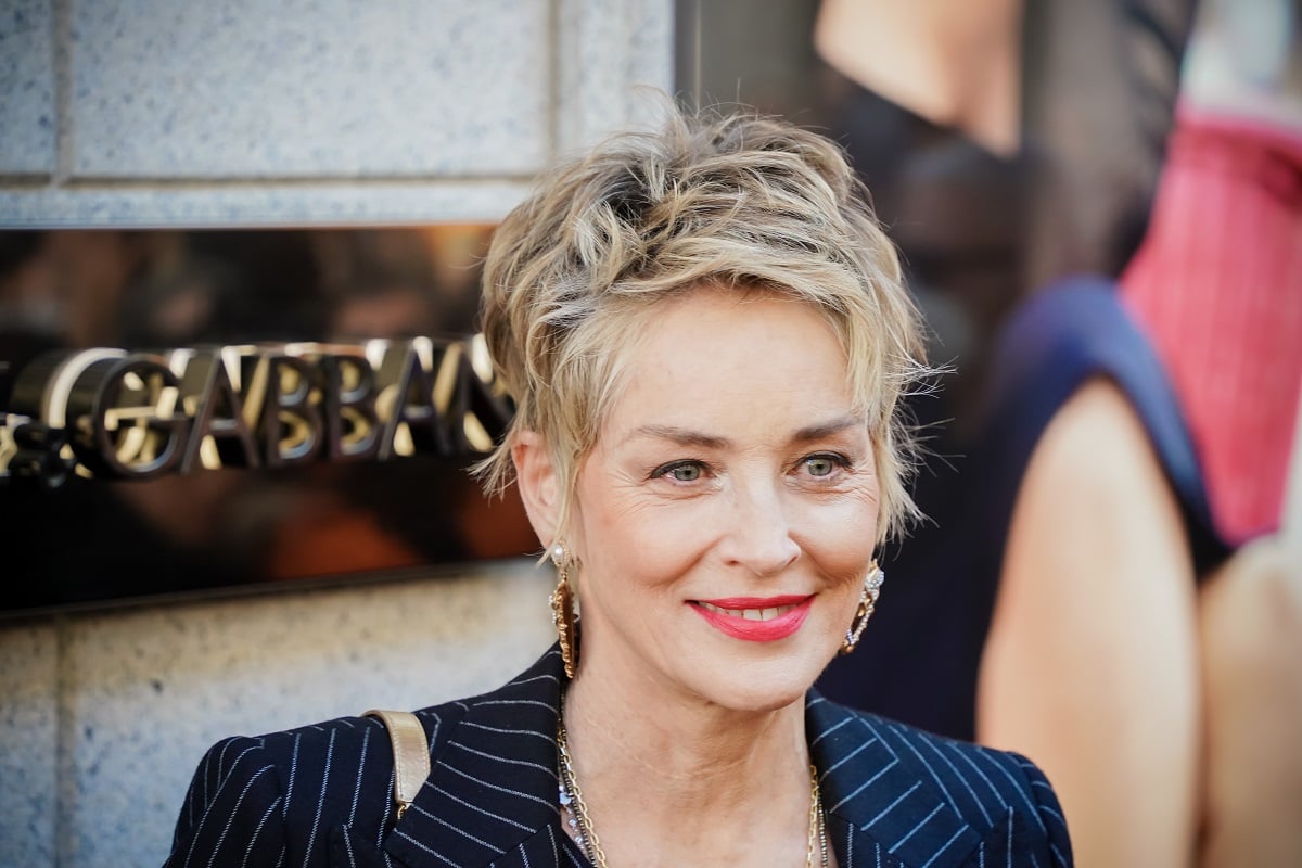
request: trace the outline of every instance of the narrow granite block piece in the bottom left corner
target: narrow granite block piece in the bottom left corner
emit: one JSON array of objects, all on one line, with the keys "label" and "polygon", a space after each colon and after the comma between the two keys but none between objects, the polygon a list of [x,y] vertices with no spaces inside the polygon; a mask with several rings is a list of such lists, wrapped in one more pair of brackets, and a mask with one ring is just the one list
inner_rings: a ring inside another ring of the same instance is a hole
[{"label": "narrow granite block piece in the bottom left corner", "polygon": [[57,699],[57,629],[0,629],[0,865],[56,863]]}]

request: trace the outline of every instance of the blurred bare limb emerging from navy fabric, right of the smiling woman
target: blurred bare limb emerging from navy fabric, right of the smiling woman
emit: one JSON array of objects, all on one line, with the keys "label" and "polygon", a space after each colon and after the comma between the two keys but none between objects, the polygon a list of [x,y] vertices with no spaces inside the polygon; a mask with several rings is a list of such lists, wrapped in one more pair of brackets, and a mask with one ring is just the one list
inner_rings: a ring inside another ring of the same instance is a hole
[{"label": "blurred bare limb emerging from navy fabric, right of the smiling woman", "polygon": [[1199,759],[1193,563],[1143,428],[1107,380],[1035,448],[978,686],[979,740],[1048,776],[1077,861],[1189,865]]}]

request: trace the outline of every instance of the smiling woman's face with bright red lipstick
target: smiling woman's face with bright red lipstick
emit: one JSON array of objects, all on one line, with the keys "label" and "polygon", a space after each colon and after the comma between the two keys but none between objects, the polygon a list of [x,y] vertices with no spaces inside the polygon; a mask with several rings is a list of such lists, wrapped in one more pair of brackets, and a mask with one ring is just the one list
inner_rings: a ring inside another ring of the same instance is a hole
[{"label": "smiling woman's face with bright red lipstick", "polygon": [[626,351],[577,478],[581,674],[786,705],[836,653],[872,557],[878,479],[845,353],[799,302],[712,288]]}]

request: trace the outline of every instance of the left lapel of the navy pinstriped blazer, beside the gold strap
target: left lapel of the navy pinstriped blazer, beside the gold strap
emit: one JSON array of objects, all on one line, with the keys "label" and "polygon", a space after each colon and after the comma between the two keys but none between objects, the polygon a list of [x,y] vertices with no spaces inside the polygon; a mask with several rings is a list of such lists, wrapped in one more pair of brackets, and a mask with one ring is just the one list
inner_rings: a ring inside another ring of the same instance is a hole
[{"label": "left lapel of the navy pinstriped blazer, beside the gold strap", "polygon": [[430,778],[385,838],[391,856],[410,868],[482,868],[521,858],[536,867],[535,854],[559,852],[560,678],[553,648],[501,690],[434,721]]}]

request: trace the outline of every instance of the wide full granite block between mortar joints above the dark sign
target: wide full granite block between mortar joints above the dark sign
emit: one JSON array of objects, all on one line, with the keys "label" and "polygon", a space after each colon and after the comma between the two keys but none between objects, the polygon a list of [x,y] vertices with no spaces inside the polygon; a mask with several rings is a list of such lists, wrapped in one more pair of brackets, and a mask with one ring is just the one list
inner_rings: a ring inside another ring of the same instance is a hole
[{"label": "wide full granite block between mortar joints above the dark sign", "polygon": [[547,9],[536,0],[74,3],[70,173],[534,172],[547,156]]}]

